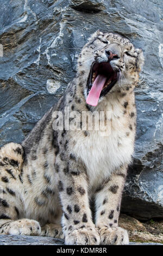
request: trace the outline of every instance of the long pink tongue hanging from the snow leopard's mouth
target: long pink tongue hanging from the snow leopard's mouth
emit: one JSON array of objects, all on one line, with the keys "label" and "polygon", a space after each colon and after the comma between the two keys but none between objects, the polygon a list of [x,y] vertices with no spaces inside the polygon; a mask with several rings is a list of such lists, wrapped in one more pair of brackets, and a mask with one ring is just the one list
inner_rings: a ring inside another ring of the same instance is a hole
[{"label": "long pink tongue hanging from the snow leopard's mouth", "polygon": [[101,94],[101,91],[103,89],[103,86],[106,81],[105,76],[103,75],[98,75],[93,82],[93,85],[91,87],[91,90],[89,92],[89,95],[87,95],[86,98],[86,103],[91,105],[91,106],[97,106],[98,100],[99,100],[99,95]]}]

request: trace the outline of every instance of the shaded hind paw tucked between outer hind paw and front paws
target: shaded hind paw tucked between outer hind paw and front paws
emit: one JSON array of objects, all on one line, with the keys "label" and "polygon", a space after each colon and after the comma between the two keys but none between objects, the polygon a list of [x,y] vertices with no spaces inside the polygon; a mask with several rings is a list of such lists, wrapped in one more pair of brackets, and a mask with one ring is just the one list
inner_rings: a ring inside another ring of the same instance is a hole
[{"label": "shaded hind paw tucked between outer hind paw and front paws", "polygon": [[64,234],[62,232],[61,225],[57,225],[57,224],[53,224],[53,223],[46,224],[43,227],[41,227],[40,235],[64,239]]}]

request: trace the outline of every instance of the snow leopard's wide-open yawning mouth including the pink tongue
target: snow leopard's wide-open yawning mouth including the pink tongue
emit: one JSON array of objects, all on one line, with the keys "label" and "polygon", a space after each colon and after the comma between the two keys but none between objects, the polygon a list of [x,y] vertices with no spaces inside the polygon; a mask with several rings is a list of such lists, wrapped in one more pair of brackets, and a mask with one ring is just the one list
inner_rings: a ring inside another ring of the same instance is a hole
[{"label": "snow leopard's wide-open yawning mouth including the pink tongue", "polygon": [[87,80],[86,103],[97,106],[101,96],[108,93],[117,82],[117,71],[114,71],[109,62],[93,62]]}]

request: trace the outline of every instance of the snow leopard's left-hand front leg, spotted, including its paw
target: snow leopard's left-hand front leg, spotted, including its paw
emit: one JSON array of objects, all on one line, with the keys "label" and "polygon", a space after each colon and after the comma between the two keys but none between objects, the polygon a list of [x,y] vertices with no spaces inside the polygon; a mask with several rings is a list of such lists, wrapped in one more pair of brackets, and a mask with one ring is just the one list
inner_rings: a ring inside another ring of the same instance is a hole
[{"label": "snow leopard's left-hand front leg, spotted, including its paw", "polygon": [[70,155],[68,163],[61,162],[57,156],[56,166],[66,245],[98,245],[100,237],[92,222],[87,178],[82,165],[79,166],[75,157]]}]

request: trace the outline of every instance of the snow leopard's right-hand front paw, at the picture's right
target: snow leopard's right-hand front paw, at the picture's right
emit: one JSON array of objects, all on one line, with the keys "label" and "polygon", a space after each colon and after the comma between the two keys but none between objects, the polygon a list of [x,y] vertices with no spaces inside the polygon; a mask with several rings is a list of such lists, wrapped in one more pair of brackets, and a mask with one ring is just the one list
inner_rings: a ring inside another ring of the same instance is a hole
[{"label": "snow leopard's right-hand front paw, at the picture's right", "polygon": [[129,244],[127,230],[120,227],[114,227],[114,228],[101,227],[99,228],[99,235],[101,237],[101,245],[128,245]]}]

